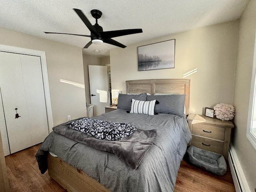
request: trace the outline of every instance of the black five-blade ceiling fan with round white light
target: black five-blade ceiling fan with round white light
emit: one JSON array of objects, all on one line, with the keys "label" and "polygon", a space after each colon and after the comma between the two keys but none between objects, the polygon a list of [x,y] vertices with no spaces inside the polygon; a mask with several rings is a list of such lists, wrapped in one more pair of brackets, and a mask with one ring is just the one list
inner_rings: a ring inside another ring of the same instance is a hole
[{"label": "black five-blade ceiling fan with round white light", "polygon": [[84,22],[87,28],[90,30],[91,35],[80,35],[80,34],[70,34],[70,33],[55,33],[55,32],[44,32],[51,34],[67,34],[67,35],[77,35],[90,37],[91,41],[88,42],[84,48],[88,48],[92,43],[93,44],[102,44],[108,43],[114,46],[118,46],[121,48],[126,48],[125,45],[113,40],[113,37],[119,37],[124,35],[130,35],[135,33],[142,33],[142,29],[125,29],[125,30],[115,30],[115,31],[103,31],[103,28],[98,24],[98,19],[102,16],[102,12],[100,10],[91,10],[92,17],[96,19],[96,23],[92,25],[90,21],[86,18],[84,13],[79,9],[74,9],[74,11],[78,14],[80,19]]}]

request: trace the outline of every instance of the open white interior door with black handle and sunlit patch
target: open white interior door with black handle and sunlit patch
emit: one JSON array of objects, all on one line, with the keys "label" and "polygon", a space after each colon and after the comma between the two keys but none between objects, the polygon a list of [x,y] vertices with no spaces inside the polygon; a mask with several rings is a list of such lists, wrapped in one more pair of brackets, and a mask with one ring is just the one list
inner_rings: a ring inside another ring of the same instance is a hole
[{"label": "open white interior door with black handle and sunlit patch", "polygon": [[94,116],[105,112],[109,106],[108,99],[108,68],[107,66],[88,65],[90,98],[94,104]]}]

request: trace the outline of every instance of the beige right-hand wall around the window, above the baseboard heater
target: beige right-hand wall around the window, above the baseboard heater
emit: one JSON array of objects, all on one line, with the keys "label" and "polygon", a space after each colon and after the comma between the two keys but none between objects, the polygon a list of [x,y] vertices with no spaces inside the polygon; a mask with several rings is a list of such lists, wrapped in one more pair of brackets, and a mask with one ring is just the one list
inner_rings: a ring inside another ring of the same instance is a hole
[{"label": "beige right-hand wall around the window, above the baseboard heater", "polygon": [[240,18],[234,89],[233,145],[251,191],[256,188],[256,150],[246,138],[256,29],[256,0],[250,0]]}]

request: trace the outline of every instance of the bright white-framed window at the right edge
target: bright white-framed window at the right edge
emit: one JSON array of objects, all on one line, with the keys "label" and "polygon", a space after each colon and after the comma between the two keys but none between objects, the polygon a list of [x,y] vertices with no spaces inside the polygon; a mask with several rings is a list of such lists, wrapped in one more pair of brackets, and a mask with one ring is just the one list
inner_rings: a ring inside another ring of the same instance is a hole
[{"label": "bright white-framed window at the right edge", "polygon": [[254,56],[252,64],[252,82],[247,122],[247,138],[256,149],[256,33],[254,42]]}]

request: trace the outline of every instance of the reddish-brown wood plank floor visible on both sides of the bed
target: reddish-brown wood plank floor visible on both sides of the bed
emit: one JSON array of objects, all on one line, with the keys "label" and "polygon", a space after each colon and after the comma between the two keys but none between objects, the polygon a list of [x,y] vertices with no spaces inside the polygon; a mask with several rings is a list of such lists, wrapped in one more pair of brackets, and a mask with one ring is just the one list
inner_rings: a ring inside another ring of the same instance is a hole
[{"label": "reddish-brown wood plank floor visible on both sides of the bed", "polygon": [[[40,144],[6,156],[11,192],[66,192],[48,172],[41,174],[35,154]],[[196,166],[181,162],[175,192],[235,192],[231,173],[217,176]]]}]

